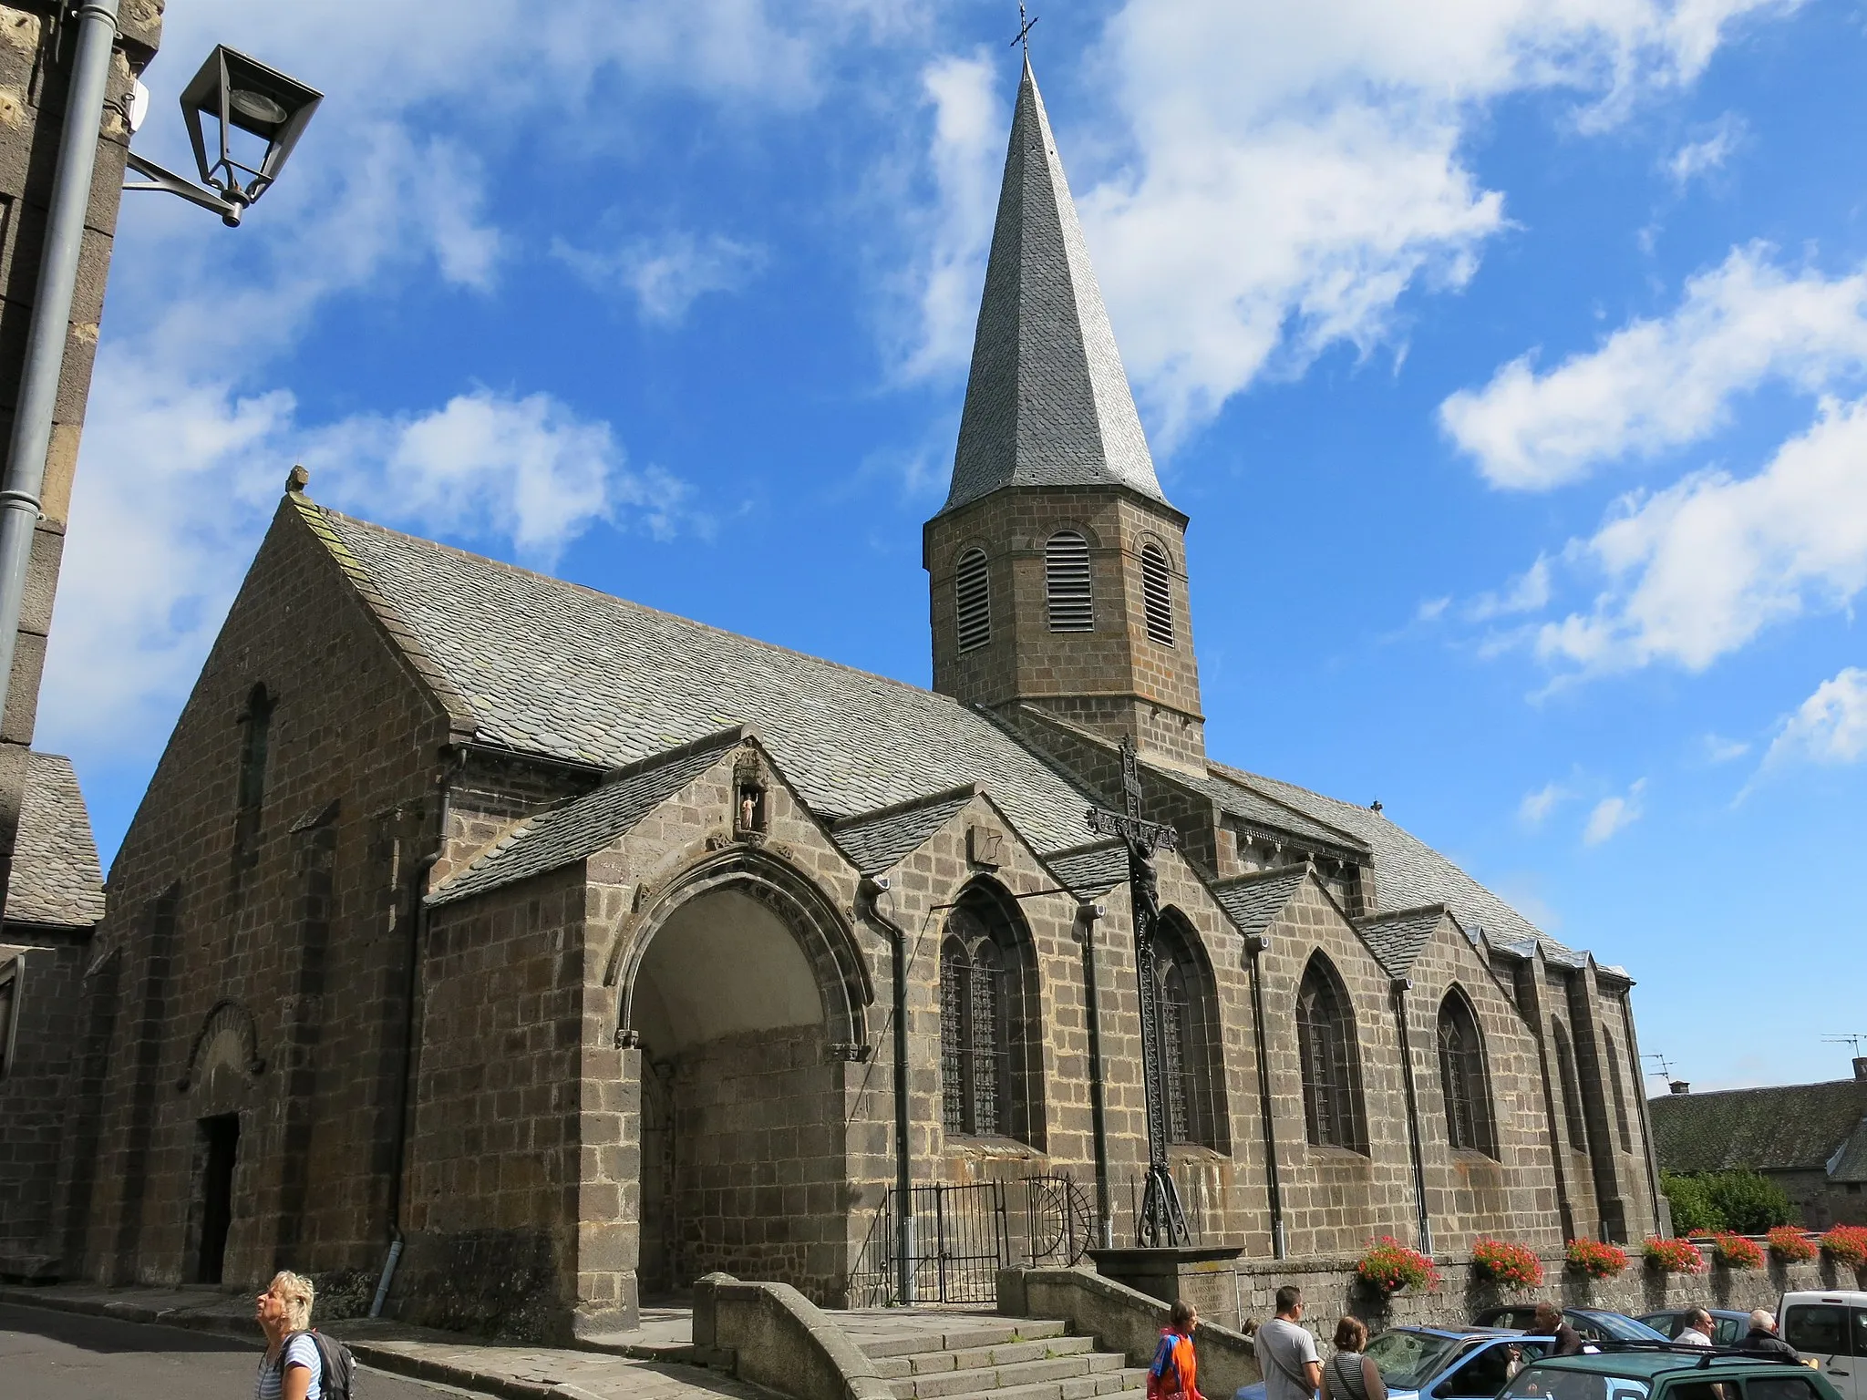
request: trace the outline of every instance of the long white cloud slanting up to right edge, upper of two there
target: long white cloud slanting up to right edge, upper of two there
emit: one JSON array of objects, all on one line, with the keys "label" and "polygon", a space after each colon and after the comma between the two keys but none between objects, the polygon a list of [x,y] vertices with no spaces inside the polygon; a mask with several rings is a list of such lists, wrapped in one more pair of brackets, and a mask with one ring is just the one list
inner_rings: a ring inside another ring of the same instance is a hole
[{"label": "long white cloud slanting up to right edge, upper of two there", "polygon": [[1671,315],[1632,321],[1544,375],[1520,357],[1445,399],[1439,422],[1494,485],[1544,491],[1699,442],[1759,385],[1818,394],[1863,371],[1867,273],[1789,274],[1751,245],[1692,278]]}]

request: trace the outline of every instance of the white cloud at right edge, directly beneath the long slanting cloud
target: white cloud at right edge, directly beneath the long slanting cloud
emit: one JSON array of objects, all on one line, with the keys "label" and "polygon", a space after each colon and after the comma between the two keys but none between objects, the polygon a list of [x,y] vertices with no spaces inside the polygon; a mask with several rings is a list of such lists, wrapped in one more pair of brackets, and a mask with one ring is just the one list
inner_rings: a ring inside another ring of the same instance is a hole
[{"label": "white cloud at right edge, directly beneath the long slanting cloud", "polygon": [[1537,653],[1585,672],[1671,661],[1703,670],[1774,622],[1867,588],[1867,403],[1824,401],[1761,472],[1695,472],[1622,497],[1570,547],[1606,586],[1537,629]]}]

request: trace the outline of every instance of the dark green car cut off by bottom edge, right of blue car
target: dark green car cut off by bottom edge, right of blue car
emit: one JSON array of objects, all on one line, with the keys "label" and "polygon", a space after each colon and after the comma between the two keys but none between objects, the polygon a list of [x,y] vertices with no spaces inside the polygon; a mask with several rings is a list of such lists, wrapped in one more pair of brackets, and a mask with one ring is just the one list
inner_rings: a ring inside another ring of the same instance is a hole
[{"label": "dark green car cut off by bottom edge, right of blue car", "polygon": [[1669,1342],[1607,1348],[1542,1357],[1512,1376],[1497,1400],[1846,1400],[1817,1370],[1740,1351]]}]

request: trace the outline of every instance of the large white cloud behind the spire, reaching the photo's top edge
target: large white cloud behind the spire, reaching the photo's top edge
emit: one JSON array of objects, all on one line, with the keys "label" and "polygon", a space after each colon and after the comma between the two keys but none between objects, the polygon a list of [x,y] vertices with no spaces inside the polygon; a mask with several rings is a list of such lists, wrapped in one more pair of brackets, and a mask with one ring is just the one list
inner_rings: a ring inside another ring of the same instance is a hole
[{"label": "large white cloud behind the spire, reaching the photo's top edge", "polygon": [[[1094,63],[1115,116],[1062,133],[1098,274],[1171,444],[1264,373],[1393,342],[1411,287],[1460,287],[1505,228],[1466,149],[1488,105],[1576,95],[1615,121],[1705,69],[1731,24],[1794,0],[1128,0]],[[1053,108],[1055,114],[1055,108]],[[934,159],[948,149],[935,136]],[[954,218],[991,185],[941,181]],[[928,239],[926,269],[954,241]],[[962,286],[976,295],[982,246]],[[932,282],[932,273],[924,273]],[[932,329],[963,364],[969,342]]]}]

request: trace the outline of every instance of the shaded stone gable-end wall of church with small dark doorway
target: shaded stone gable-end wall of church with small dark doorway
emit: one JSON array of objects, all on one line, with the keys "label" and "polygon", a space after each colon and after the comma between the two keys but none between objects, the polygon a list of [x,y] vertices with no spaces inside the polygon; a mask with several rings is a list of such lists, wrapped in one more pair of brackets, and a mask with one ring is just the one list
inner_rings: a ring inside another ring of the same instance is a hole
[{"label": "shaded stone gable-end wall of church with small dark doorway", "polygon": [[[256,683],[274,709],[263,805],[241,846],[241,715]],[[86,1275],[194,1277],[198,1120],[228,1111],[226,1281],[381,1267],[407,920],[450,732],[284,502],[110,870],[88,991],[118,991],[93,1008],[110,1030],[97,1144],[69,1182],[88,1202]],[[228,1017],[252,1055],[233,1079],[198,1073]]]}]

